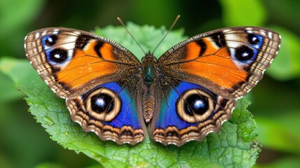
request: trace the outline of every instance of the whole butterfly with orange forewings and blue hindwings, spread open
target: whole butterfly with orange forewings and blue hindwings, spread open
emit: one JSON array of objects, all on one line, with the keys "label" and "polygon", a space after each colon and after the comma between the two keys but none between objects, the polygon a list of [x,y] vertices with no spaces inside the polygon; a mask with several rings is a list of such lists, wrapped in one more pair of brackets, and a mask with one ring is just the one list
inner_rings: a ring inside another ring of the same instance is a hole
[{"label": "whole butterfly with orange forewings and blue hindwings, spread open", "polygon": [[182,146],[218,132],[236,100],[262,79],[280,35],[229,27],[192,36],[141,62],[107,38],[68,28],[29,33],[27,58],[71,118],[103,141],[135,145],[147,136]]}]

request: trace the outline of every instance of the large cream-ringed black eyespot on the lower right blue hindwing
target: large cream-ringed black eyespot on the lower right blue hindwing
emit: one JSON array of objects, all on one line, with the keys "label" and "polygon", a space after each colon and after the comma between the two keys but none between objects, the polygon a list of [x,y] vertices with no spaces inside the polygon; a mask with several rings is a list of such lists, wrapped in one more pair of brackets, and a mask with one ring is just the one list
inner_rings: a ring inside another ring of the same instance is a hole
[{"label": "large cream-ringed black eyespot on the lower right blue hindwing", "polygon": [[200,89],[186,90],[176,102],[178,116],[187,123],[196,123],[206,120],[215,106],[213,98]]}]

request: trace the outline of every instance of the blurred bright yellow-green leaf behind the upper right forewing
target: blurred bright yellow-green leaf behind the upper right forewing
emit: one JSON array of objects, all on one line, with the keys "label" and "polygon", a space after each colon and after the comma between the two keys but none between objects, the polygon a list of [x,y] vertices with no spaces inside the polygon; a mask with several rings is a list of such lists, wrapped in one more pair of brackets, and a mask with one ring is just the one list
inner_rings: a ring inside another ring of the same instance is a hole
[{"label": "blurred bright yellow-green leaf behind the upper right forewing", "polygon": [[266,20],[266,12],[262,1],[259,0],[220,0],[224,25],[259,26]]}]

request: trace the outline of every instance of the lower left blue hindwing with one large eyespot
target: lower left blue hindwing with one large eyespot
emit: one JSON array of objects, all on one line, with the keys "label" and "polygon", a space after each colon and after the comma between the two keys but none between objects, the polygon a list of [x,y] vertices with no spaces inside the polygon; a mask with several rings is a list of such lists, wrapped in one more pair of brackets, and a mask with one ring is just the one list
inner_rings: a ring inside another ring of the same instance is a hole
[{"label": "lower left blue hindwing with one large eyespot", "polygon": [[[66,99],[71,118],[86,132],[95,132],[102,140],[134,145],[145,139],[145,123],[141,116],[141,94],[129,77],[117,82],[103,83],[74,99]],[[139,113],[140,112],[140,113]]]}]

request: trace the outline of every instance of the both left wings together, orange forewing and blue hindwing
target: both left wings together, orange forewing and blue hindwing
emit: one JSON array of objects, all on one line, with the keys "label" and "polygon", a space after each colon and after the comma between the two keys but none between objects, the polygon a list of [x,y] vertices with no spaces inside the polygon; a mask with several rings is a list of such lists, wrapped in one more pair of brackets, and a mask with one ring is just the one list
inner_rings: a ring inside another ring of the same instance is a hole
[{"label": "both left wings together, orange forewing and blue hindwing", "polygon": [[141,63],[131,52],[106,38],[66,28],[33,31],[24,46],[34,69],[66,99],[83,130],[117,144],[144,139],[141,81],[136,77]]}]

